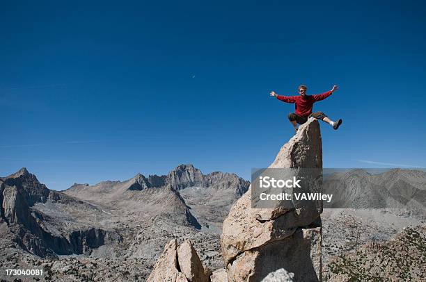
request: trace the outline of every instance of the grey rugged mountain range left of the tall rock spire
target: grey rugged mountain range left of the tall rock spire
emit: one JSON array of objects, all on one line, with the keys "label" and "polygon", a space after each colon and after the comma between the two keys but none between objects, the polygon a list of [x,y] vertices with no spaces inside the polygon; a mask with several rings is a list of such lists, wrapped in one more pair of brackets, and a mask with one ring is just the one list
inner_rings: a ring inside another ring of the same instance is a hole
[{"label": "grey rugged mountain range left of the tall rock spire", "polygon": [[[222,216],[249,185],[235,174],[205,175],[193,165],[179,165],[163,176],[136,174],[126,181],[74,184],[59,192],[49,190],[22,168],[0,178],[0,252],[3,258],[13,258],[1,264],[44,258],[43,267],[49,269],[54,263],[72,261],[74,256],[90,261],[109,258],[118,270],[123,269],[111,274],[119,279],[120,273],[127,272],[122,263],[126,258],[134,260],[135,273],[144,277],[161,251],[161,244],[177,234],[193,240],[198,236],[208,251],[205,242],[208,245],[209,240],[217,241]],[[221,201],[219,213],[214,208],[210,210],[209,224],[205,217],[198,219],[191,213],[180,194],[194,194],[190,191],[193,188],[208,194],[202,200],[205,204],[221,198],[214,194],[229,196]],[[210,265],[220,265],[220,259],[215,258],[219,252],[214,251],[219,249],[218,243],[212,243],[210,249],[210,256],[204,259],[211,261]]]}]

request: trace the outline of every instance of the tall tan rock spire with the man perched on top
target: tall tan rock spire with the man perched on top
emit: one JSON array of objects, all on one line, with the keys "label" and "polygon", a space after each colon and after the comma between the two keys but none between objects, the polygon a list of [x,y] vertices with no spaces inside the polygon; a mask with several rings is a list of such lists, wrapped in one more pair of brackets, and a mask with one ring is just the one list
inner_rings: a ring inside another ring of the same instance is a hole
[{"label": "tall tan rock spire with the man perched on top", "polygon": [[[322,169],[319,124],[309,119],[278,152],[269,168]],[[251,188],[223,222],[221,249],[229,281],[261,281],[285,269],[294,281],[321,281],[322,204],[252,208]]]}]

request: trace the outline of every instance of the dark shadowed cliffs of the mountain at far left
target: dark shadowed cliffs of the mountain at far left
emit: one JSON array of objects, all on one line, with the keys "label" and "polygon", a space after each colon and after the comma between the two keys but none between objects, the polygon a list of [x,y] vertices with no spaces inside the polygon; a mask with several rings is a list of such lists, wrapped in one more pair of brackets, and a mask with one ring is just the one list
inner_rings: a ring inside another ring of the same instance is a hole
[{"label": "dark shadowed cliffs of the mountain at far left", "polygon": [[2,229],[2,235],[4,238],[12,236],[20,247],[37,256],[56,258],[56,255],[85,254],[103,245],[105,238],[119,239],[111,231],[92,226],[52,233],[45,225],[52,218],[33,208],[35,204],[85,204],[61,192],[47,189],[25,168],[0,180],[0,195],[0,224],[8,226],[6,231]]}]

